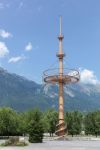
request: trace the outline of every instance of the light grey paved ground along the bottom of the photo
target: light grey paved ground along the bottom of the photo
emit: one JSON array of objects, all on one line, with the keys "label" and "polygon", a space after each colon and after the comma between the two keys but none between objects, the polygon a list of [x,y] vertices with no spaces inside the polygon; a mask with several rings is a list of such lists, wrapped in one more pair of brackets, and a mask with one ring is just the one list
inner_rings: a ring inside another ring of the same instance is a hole
[{"label": "light grey paved ground along the bottom of the photo", "polygon": [[46,141],[26,147],[0,147],[0,150],[100,150],[100,141]]}]

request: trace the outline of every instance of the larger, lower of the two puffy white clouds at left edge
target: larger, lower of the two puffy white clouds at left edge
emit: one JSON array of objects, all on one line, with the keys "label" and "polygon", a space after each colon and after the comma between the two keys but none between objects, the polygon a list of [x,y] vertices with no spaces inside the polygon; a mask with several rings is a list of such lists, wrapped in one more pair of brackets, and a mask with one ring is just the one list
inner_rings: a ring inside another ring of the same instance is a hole
[{"label": "larger, lower of the two puffy white clouds at left edge", "polygon": [[5,57],[9,54],[9,50],[4,42],[0,42],[0,57]]}]

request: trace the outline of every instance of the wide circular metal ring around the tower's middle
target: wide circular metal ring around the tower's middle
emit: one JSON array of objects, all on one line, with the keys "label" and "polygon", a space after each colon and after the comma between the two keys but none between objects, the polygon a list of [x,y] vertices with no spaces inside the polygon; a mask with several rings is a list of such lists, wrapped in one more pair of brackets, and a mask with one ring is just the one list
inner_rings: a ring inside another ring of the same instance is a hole
[{"label": "wide circular metal ring around the tower's middle", "polygon": [[43,73],[43,81],[45,83],[60,83],[69,84],[76,83],[80,79],[79,72],[74,69],[63,68],[63,74],[59,74],[59,69],[48,69]]}]

